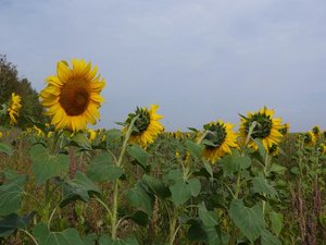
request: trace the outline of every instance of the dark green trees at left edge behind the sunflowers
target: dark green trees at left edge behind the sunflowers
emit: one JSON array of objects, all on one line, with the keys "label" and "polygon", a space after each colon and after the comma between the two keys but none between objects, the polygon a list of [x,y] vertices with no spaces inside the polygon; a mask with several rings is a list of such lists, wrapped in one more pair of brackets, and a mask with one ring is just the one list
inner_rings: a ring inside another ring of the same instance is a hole
[{"label": "dark green trees at left edge behind the sunflowers", "polygon": [[22,97],[23,107],[20,112],[18,126],[29,126],[29,119],[45,122],[38,93],[27,78],[20,78],[16,66],[8,62],[4,54],[0,54],[0,105],[8,102],[12,93]]}]

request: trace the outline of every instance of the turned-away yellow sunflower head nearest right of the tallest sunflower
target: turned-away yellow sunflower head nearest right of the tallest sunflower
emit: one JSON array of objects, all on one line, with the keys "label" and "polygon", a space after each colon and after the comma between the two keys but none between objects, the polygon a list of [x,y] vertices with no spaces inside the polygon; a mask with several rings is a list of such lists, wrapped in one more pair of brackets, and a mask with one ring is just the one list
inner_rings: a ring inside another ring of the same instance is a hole
[{"label": "turned-away yellow sunflower head nearest right of the tallest sunflower", "polygon": [[137,108],[135,113],[130,113],[126,120],[123,133],[127,132],[130,122],[135,117],[138,117],[134,123],[134,131],[129,137],[129,143],[138,143],[142,148],[153,143],[164,127],[159,122],[163,115],[156,114],[159,106],[151,105],[150,110],[147,108]]}]

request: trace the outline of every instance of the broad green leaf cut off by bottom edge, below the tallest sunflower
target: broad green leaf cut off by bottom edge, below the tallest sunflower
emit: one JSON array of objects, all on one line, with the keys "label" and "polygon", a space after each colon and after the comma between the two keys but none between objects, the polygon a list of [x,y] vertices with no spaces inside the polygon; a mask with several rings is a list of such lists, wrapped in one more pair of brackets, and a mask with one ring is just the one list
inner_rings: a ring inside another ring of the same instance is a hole
[{"label": "broad green leaf cut off by bottom edge, below the tallest sunflower", "polygon": [[34,236],[39,245],[85,245],[74,228],[62,232],[50,232],[46,224],[37,224],[34,229]]}]

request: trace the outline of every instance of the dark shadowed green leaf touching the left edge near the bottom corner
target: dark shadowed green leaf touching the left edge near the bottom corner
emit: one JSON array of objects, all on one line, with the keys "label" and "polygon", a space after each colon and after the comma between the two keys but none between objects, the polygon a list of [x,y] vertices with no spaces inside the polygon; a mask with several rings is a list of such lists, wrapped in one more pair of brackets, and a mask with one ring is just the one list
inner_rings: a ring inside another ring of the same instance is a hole
[{"label": "dark shadowed green leaf touching the left edge near the bottom corner", "polygon": [[26,230],[34,216],[35,211],[23,217],[20,217],[16,213],[11,213],[0,219],[0,237],[9,236],[18,229]]}]

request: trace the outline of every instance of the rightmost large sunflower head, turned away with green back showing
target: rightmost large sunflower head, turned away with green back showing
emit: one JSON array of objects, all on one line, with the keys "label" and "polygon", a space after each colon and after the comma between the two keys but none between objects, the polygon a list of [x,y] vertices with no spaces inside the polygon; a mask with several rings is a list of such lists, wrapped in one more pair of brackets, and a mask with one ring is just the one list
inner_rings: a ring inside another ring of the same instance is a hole
[{"label": "rightmost large sunflower head, turned away with green back showing", "polygon": [[278,145],[283,138],[283,134],[279,131],[284,128],[284,125],[281,125],[281,119],[274,119],[273,115],[274,110],[268,110],[266,107],[254,113],[249,112],[247,117],[242,115],[239,128],[241,143],[246,142],[249,128],[253,122],[256,122],[256,126],[253,128],[253,132],[250,135],[248,145],[258,150],[258,145],[254,143],[254,140],[252,140],[256,138],[262,140],[267,151],[268,148],[273,147],[273,145]]}]

